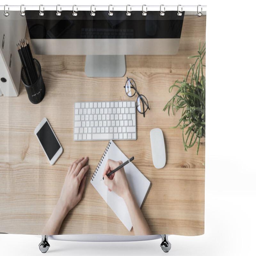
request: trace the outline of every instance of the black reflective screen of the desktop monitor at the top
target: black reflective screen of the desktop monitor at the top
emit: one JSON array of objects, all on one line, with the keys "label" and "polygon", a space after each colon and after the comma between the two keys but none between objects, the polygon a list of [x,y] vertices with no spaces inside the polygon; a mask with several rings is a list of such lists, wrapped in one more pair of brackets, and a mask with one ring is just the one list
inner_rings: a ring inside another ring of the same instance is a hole
[{"label": "black reflective screen of the desktop monitor at the top", "polygon": [[45,11],[39,16],[38,11],[26,11],[28,31],[31,39],[86,39],[86,38],[180,38],[185,12],[182,16],[177,11],[142,12],[134,11],[127,16],[124,11],[115,11],[109,16],[106,11],[80,11],[77,16],[72,11]]}]

